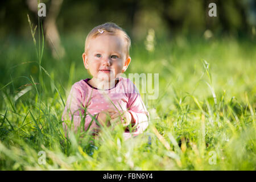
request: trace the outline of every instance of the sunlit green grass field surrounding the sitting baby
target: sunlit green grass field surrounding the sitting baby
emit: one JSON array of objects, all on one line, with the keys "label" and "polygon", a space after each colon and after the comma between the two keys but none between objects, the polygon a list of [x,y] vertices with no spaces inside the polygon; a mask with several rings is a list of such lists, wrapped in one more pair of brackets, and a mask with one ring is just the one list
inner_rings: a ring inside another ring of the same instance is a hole
[{"label": "sunlit green grass field surrounding the sitting baby", "polygon": [[142,94],[150,126],[126,141],[121,127],[104,129],[90,143],[65,139],[61,125],[69,89],[89,77],[85,36],[63,36],[61,60],[42,53],[42,38],[42,59],[30,37],[0,40],[1,170],[255,170],[255,41],[156,35],[154,52],[132,43],[126,73],[159,73],[158,99]]}]

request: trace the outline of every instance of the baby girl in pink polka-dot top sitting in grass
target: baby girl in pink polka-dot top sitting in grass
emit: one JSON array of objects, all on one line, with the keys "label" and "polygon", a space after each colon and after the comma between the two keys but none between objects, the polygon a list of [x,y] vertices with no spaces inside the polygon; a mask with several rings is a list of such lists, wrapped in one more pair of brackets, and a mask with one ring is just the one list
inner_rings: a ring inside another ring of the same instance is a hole
[{"label": "baby girl in pink polka-dot top sitting in grass", "polygon": [[[138,89],[129,78],[122,77],[131,62],[131,40],[115,23],[94,27],[85,40],[82,54],[84,66],[92,78],[73,84],[67,98],[62,120],[73,121],[72,130],[79,126],[93,135],[102,126],[126,127],[125,139],[143,133],[150,116]],[[67,125],[63,122],[67,130]]]}]

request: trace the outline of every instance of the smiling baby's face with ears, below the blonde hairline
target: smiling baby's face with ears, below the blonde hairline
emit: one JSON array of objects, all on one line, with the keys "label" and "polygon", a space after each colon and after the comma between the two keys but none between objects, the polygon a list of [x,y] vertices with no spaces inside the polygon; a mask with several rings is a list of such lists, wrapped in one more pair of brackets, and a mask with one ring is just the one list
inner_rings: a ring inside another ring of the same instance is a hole
[{"label": "smiling baby's face with ears, below the blonde hairline", "polygon": [[125,41],[116,35],[104,32],[91,39],[87,54],[82,54],[84,65],[93,78],[98,80],[114,79],[126,71],[131,58],[127,57]]}]

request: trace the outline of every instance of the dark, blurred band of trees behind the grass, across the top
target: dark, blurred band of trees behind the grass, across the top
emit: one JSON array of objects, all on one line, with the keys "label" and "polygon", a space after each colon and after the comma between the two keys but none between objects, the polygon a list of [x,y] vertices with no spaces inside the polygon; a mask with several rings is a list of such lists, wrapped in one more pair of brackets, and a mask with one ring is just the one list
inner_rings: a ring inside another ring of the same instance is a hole
[{"label": "dark, blurred band of trees behind the grass, across the top", "polygon": [[[62,1],[42,1],[46,3],[49,15],[49,19],[42,20],[51,24],[50,32],[55,32],[55,35],[58,35],[57,30],[61,34],[81,32],[86,35],[92,27],[105,22],[117,23],[138,40],[144,40],[149,28],[155,30],[156,36],[175,32],[201,35],[208,29],[213,33],[240,35],[247,34],[256,24],[255,0]],[[0,2],[1,37],[29,34],[26,14],[31,14],[32,9],[25,2]],[[208,16],[211,2],[217,5],[217,17]],[[31,20],[36,23],[36,16]]]}]

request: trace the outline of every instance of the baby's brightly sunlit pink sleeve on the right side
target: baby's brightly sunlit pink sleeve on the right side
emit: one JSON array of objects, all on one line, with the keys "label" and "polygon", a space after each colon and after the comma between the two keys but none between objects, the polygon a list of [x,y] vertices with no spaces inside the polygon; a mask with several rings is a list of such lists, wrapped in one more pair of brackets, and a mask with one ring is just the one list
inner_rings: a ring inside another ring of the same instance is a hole
[{"label": "baby's brightly sunlit pink sleeve on the right side", "polygon": [[135,123],[135,133],[136,135],[143,133],[148,126],[148,121],[150,120],[150,115],[144,105],[141,94],[139,94],[136,86],[131,82],[133,88],[129,93],[128,111],[134,119]]}]

